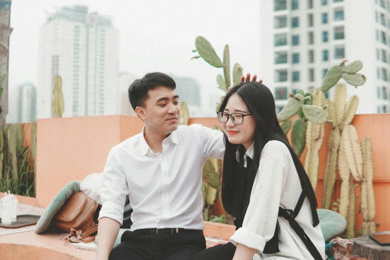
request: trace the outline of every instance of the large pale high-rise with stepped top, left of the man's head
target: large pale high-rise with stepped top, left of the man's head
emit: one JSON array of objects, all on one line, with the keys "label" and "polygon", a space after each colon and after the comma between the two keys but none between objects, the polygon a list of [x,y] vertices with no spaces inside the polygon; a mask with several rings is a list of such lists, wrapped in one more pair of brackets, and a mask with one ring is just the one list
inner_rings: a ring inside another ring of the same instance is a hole
[{"label": "large pale high-rise with stepped top, left of the man's head", "polygon": [[62,78],[63,117],[118,114],[119,31],[87,6],[62,7],[40,31],[38,118],[52,117],[54,77]]}]

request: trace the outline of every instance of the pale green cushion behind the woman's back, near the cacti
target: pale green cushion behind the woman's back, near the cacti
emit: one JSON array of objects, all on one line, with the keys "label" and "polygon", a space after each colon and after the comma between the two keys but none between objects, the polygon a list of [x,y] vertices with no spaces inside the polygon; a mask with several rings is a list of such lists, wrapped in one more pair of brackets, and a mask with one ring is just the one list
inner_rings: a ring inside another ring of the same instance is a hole
[{"label": "pale green cushion behind the woman's back, near the cacti", "polygon": [[336,211],[317,209],[317,213],[325,242],[343,233],[347,227],[347,220]]}]

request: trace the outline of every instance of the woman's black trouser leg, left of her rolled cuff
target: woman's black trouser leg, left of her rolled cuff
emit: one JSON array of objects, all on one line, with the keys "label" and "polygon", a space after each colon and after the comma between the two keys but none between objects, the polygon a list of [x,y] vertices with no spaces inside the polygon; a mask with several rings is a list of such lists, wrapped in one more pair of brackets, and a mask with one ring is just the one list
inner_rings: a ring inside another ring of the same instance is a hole
[{"label": "woman's black trouser leg, left of her rolled cuff", "polygon": [[232,260],[234,253],[236,246],[229,242],[203,250],[196,254],[193,260]]}]

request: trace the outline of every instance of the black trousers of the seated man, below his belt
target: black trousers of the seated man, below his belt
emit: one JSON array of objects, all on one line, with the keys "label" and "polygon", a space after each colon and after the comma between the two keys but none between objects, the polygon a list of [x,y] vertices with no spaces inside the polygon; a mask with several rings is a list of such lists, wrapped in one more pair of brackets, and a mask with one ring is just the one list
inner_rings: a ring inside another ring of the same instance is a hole
[{"label": "black trousers of the seated man, below his belt", "polygon": [[206,240],[202,234],[144,235],[126,231],[109,260],[192,260],[204,249]]}]

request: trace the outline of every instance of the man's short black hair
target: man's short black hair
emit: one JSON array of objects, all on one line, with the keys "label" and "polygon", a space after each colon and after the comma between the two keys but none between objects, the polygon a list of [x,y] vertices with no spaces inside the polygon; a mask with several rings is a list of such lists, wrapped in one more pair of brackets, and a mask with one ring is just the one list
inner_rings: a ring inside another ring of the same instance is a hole
[{"label": "man's short black hair", "polygon": [[161,72],[145,74],[142,79],[136,79],[129,87],[129,100],[133,110],[136,107],[145,107],[145,101],[149,98],[148,91],[158,87],[176,89],[175,81],[168,75]]}]

